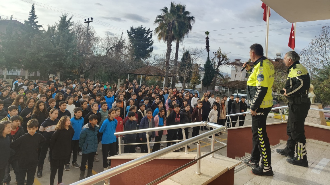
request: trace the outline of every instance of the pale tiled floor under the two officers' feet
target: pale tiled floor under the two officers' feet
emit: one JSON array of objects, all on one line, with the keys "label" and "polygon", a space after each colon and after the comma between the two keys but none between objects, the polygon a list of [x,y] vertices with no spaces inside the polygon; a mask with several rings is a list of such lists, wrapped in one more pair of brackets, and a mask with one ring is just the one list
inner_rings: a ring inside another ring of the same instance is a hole
[{"label": "pale tiled floor under the two officers' feet", "polygon": [[[234,185],[330,185],[330,145],[307,142],[307,159],[309,167],[295,166],[286,162],[276,152],[283,149],[285,143],[272,147],[272,168],[274,176],[256,176],[244,163],[235,167]],[[245,156],[239,160],[249,158]]]}]

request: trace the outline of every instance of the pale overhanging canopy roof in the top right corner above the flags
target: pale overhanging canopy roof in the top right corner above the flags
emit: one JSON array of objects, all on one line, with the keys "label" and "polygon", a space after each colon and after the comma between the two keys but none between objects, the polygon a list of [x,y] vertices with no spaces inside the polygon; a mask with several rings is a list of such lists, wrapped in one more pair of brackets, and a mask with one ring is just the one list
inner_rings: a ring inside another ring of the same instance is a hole
[{"label": "pale overhanging canopy roof in the top right corner above the flags", "polygon": [[330,19],[330,0],[261,0],[289,22]]}]

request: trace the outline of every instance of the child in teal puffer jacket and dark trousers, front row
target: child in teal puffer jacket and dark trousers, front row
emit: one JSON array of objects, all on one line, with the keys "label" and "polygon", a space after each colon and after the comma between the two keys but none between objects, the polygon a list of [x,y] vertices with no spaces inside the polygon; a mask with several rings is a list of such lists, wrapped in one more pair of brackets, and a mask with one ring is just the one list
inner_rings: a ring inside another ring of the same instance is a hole
[{"label": "child in teal puffer jacket and dark trousers, front row", "polygon": [[80,132],[79,147],[82,150],[82,163],[80,164],[79,180],[85,178],[86,162],[88,160],[87,176],[92,176],[94,156],[97,151],[97,133],[99,125],[97,124],[98,117],[93,114],[88,117],[89,123],[85,124]]}]

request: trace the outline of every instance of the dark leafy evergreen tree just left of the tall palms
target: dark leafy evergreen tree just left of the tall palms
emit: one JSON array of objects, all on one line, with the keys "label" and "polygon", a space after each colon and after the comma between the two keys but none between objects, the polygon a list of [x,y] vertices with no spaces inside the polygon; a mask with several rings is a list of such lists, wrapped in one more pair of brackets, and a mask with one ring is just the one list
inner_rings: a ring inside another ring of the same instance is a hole
[{"label": "dark leafy evergreen tree just left of the tall palms", "polygon": [[132,45],[133,56],[136,61],[147,59],[153,51],[152,30],[146,30],[142,25],[127,30],[129,41]]}]

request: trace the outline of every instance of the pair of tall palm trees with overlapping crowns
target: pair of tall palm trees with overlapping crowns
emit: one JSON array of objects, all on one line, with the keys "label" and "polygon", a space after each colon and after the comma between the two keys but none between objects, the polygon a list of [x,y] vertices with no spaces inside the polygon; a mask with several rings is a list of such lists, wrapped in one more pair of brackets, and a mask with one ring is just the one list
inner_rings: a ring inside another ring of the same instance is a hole
[{"label": "pair of tall palm trees with overlapping crowns", "polygon": [[[186,34],[192,29],[192,24],[195,22],[195,17],[188,16],[190,12],[185,11],[185,6],[181,4],[171,3],[170,10],[167,7],[160,9],[161,15],[157,15],[154,21],[155,34],[157,34],[158,40],[167,42],[166,50],[166,62],[165,62],[165,84],[168,83],[168,73],[170,69],[170,57],[172,52],[172,42],[177,40],[176,47],[176,60],[175,66],[178,64],[178,52],[180,40],[184,38]],[[176,67],[175,67],[176,74]]]}]

